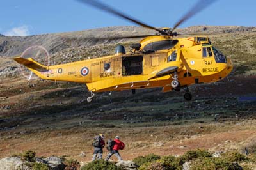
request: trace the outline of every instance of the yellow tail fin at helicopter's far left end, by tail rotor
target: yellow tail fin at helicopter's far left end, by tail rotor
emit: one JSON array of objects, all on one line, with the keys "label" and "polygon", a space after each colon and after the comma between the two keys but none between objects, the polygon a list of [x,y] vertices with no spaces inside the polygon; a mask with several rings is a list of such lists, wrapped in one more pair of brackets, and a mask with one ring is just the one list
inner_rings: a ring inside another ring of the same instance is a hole
[{"label": "yellow tail fin at helicopter's far left end, by tail rotor", "polygon": [[33,60],[32,58],[21,58],[21,57],[17,57],[17,58],[13,58],[17,63],[20,63],[21,65],[24,65],[26,67],[29,68],[29,70],[36,70],[38,72],[47,72],[49,71],[47,69],[47,66],[41,65],[40,63],[37,63],[35,60]]}]

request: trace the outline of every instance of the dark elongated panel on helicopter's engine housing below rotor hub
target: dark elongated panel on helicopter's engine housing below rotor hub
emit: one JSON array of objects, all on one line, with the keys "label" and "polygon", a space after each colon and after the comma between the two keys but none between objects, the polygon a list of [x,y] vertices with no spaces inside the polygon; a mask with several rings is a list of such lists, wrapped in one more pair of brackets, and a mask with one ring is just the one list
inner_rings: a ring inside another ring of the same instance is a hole
[{"label": "dark elongated panel on helicopter's engine housing below rotor hub", "polygon": [[173,40],[163,40],[159,42],[152,42],[145,45],[143,50],[145,51],[156,51],[156,50],[167,50],[171,49],[175,44],[173,44]]}]

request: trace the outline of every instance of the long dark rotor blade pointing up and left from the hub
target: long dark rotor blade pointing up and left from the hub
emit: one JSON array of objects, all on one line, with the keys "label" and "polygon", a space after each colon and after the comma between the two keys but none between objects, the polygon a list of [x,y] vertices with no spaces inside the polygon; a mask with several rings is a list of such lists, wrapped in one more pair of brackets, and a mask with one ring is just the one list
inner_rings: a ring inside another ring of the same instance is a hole
[{"label": "long dark rotor blade pointing up and left from the hub", "polygon": [[148,26],[148,24],[145,24],[145,23],[140,22],[136,19],[133,19],[132,17],[129,17],[128,15],[125,15],[124,13],[119,12],[118,10],[115,10],[114,8],[111,8],[110,6],[108,6],[104,3],[101,3],[100,1],[97,1],[97,0],[77,0],[77,1],[80,1],[80,2],[85,3],[85,4],[90,4],[91,6],[93,6],[95,8],[98,8],[98,9],[103,10],[105,12],[112,13],[113,15],[117,15],[118,17],[129,20],[131,22],[134,22],[134,23],[136,23],[136,24],[138,24],[142,27],[147,27],[148,29],[154,29],[154,30],[158,31],[159,33],[162,33],[162,31],[160,29],[157,29],[156,27]]}]

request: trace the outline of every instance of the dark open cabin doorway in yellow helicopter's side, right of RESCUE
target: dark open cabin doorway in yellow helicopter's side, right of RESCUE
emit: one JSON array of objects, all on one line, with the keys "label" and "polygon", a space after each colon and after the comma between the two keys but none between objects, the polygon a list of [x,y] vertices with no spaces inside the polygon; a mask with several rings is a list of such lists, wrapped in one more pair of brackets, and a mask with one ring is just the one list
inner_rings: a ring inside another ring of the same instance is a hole
[{"label": "dark open cabin doorway in yellow helicopter's side, right of RESCUE", "polygon": [[143,73],[143,56],[122,58],[122,75],[140,75]]}]

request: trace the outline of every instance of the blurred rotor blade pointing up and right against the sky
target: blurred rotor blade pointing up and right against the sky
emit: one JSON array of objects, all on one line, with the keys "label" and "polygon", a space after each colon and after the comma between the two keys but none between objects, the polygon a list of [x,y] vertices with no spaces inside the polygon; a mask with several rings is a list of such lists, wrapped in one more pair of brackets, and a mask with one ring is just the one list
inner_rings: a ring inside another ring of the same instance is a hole
[{"label": "blurred rotor blade pointing up and right against the sky", "polygon": [[172,32],[174,29],[176,29],[180,24],[188,20],[189,18],[193,17],[196,13],[200,12],[201,10],[204,10],[205,7],[209,6],[210,4],[214,3],[216,0],[199,0],[192,8],[191,10],[186,13],[174,26],[172,29]]}]

